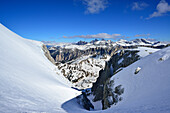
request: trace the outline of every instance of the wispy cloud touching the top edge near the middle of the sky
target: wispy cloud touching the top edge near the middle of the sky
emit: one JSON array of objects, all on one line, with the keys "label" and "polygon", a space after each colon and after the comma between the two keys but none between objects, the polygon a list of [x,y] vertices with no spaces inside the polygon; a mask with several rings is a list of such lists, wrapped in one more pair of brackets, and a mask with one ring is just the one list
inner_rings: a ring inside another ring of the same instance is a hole
[{"label": "wispy cloud touching the top edge near the middle of the sky", "polygon": [[96,14],[103,11],[107,7],[108,0],[83,0],[83,3],[87,7],[85,13]]}]

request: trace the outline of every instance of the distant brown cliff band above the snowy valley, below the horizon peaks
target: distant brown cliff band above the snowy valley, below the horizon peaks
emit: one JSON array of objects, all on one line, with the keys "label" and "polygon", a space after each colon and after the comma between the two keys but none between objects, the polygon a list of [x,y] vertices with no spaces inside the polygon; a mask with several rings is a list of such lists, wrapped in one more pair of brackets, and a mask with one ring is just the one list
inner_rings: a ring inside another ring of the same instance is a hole
[{"label": "distant brown cliff band above the snowy valley, below the horizon peaks", "polygon": [[50,50],[51,56],[55,59],[56,62],[69,62],[76,58],[79,58],[82,55],[104,55],[104,54],[113,54],[118,49],[122,49],[121,46],[109,47],[109,48],[90,48],[87,50],[79,49],[65,49],[65,48],[54,48],[55,50]]}]

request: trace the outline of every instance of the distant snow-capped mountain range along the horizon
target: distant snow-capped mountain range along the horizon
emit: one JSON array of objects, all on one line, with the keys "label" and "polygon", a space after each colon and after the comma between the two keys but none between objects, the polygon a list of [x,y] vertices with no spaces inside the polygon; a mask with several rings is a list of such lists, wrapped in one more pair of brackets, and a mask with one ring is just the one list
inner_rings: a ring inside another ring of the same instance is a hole
[{"label": "distant snow-capped mountain range along the horizon", "polygon": [[127,41],[120,39],[117,42],[113,42],[111,40],[92,40],[90,42],[85,42],[85,41],[79,41],[77,43],[56,43],[56,42],[48,42],[48,41],[43,41],[44,44],[52,47],[61,47],[61,48],[67,48],[67,49],[89,49],[89,48],[94,48],[94,47],[109,47],[109,46],[150,46],[150,47],[155,47],[155,48],[163,48],[170,44],[169,42],[161,42],[161,41],[151,41],[147,39],[135,39],[132,41]]}]

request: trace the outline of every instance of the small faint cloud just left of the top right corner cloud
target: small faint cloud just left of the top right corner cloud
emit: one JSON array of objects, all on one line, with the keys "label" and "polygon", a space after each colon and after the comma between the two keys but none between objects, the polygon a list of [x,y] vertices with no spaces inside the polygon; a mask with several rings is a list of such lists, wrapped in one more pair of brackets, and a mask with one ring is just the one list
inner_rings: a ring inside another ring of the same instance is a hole
[{"label": "small faint cloud just left of the top right corner cloud", "polygon": [[148,4],[145,2],[133,2],[132,10],[142,10],[147,6],[148,6]]}]

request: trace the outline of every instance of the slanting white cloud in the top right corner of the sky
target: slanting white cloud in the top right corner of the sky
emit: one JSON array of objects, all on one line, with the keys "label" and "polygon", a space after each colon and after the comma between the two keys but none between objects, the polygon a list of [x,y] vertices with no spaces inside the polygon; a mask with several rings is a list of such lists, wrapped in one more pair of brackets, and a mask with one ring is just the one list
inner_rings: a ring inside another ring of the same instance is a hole
[{"label": "slanting white cloud in the top right corner of the sky", "polygon": [[149,17],[146,19],[165,15],[167,12],[170,11],[170,5],[165,0],[161,0],[156,9],[157,11],[153,12],[153,14],[149,15]]}]

